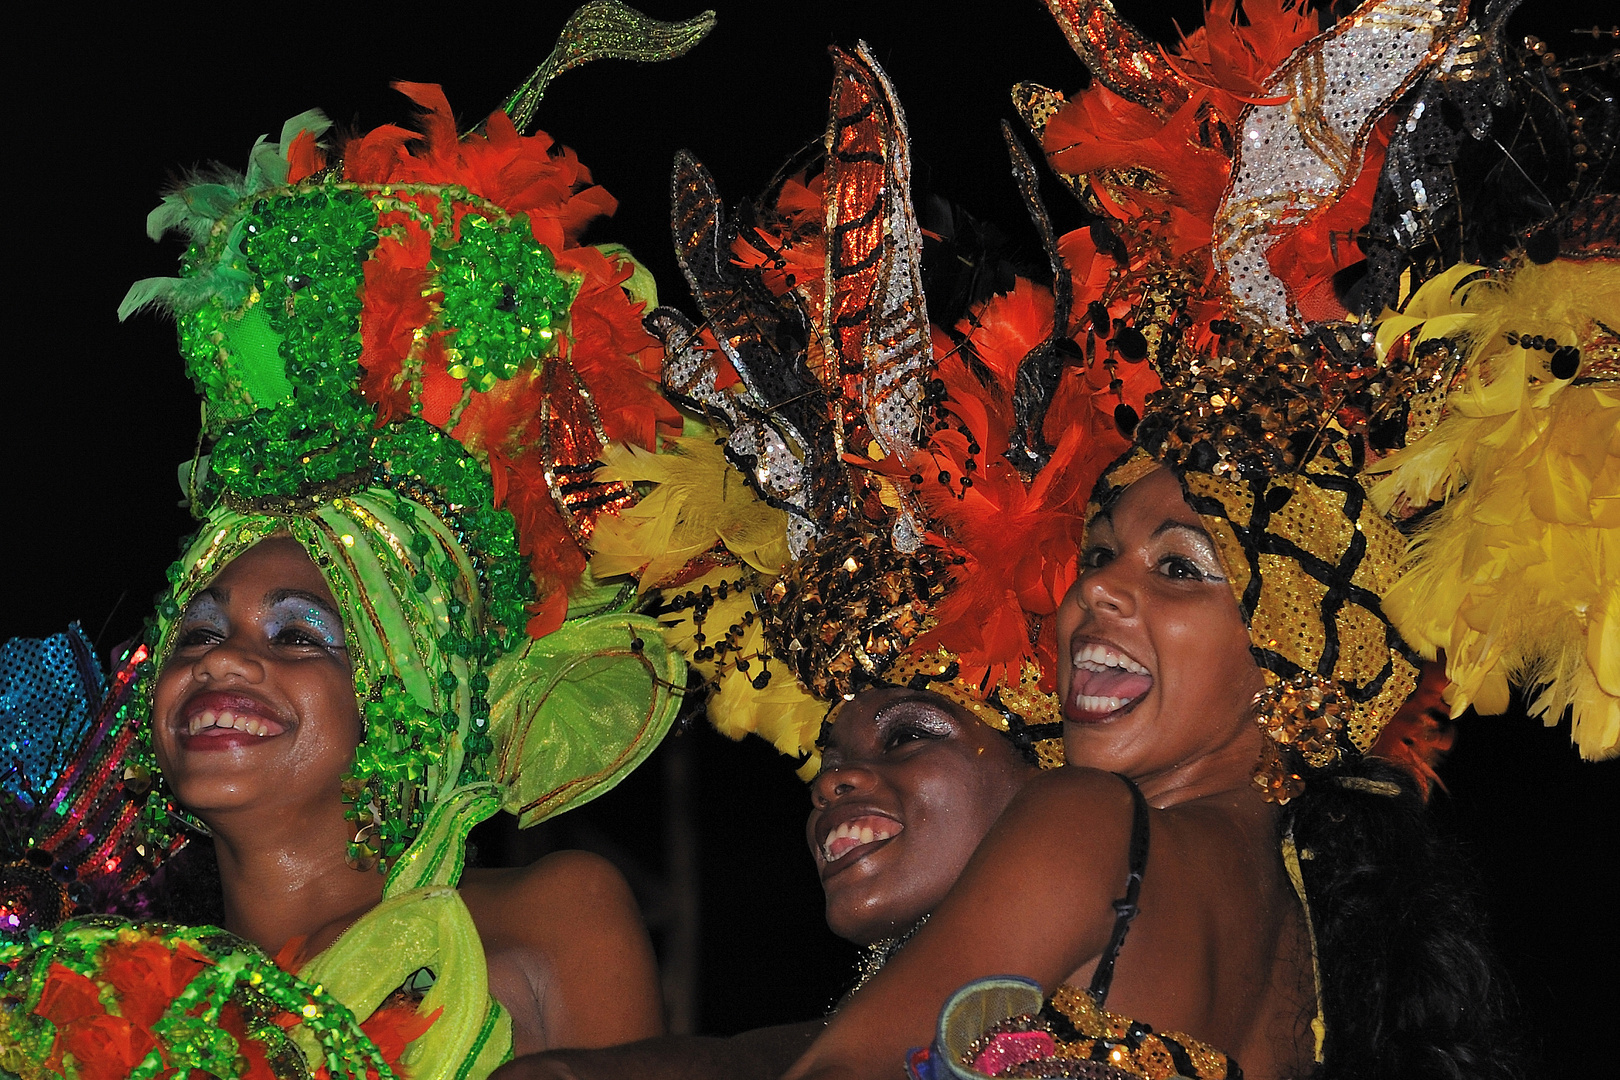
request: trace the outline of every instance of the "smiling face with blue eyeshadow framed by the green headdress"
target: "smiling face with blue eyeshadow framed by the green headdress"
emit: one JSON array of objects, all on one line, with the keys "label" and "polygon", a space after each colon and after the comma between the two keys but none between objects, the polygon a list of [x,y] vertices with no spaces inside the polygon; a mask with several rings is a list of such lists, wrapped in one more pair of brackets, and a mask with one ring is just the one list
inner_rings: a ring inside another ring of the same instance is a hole
[{"label": "smiling face with blue eyeshadow framed by the green headdress", "polygon": [[186,810],[326,805],[360,743],[343,622],[296,541],[243,552],[196,594],[152,696],[159,767]]}]

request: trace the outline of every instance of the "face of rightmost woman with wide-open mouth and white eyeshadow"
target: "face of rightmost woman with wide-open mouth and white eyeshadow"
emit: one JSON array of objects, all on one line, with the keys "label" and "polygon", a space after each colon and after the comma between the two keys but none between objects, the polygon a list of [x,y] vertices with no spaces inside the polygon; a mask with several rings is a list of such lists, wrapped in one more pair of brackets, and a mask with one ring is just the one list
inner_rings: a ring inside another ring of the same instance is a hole
[{"label": "face of rightmost woman with wide-open mouth and white eyeshadow", "polygon": [[1069,763],[1142,780],[1212,753],[1243,759],[1251,742],[1259,753],[1264,675],[1215,542],[1170,471],[1087,526],[1058,651]]}]

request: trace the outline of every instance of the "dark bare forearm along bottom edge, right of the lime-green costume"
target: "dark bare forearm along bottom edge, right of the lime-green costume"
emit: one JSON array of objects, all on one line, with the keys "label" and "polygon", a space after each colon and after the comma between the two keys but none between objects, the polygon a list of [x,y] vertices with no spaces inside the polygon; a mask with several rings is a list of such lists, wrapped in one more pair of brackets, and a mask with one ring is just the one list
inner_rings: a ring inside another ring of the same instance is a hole
[{"label": "dark bare forearm along bottom edge, right of the lime-green costume", "polygon": [[786,1023],[731,1038],[664,1035],[609,1049],[518,1057],[491,1080],[776,1080],[826,1030],[825,1020]]}]

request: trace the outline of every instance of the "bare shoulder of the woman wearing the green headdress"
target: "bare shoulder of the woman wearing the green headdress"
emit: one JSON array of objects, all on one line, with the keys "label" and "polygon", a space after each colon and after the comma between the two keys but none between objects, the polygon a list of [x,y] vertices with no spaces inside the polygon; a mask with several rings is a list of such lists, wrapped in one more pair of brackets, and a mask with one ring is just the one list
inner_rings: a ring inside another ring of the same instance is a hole
[{"label": "bare shoulder of the woman wearing the green headdress", "polygon": [[624,876],[588,852],[470,871],[462,899],[489,963],[489,993],[512,1014],[512,1048],[533,1054],[664,1033],[658,962]]}]

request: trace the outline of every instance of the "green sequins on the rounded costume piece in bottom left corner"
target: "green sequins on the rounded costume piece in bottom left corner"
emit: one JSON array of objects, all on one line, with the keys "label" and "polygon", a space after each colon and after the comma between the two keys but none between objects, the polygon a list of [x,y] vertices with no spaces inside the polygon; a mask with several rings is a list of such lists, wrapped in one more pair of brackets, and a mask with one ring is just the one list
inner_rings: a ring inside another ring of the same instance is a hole
[{"label": "green sequins on the rounded costume piece in bottom left corner", "polygon": [[[128,1072],[130,1080],[186,1075],[188,1070],[220,1080],[241,1077],[248,1069],[243,1048],[220,1025],[228,1002],[241,1010],[248,1038],[264,1048],[266,1062],[277,1077],[308,1077],[311,1065],[326,1065],[334,1080],[395,1075],[348,1007],[321,986],[280,970],[253,944],[211,926],[130,926],[99,916],[36,933],[26,944],[0,946],[0,1067],[19,1077],[55,1075],[47,1061],[62,1049],[60,1033],[36,1012],[47,983],[62,978],[60,968],[83,975],[97,984],[109,1015],[117,1015],[120,991],[109,983],[104,960],[109,947],[139,944],[157,944],[170,954],[191,949],[207,963],[147,1028],[156,1046]],[[287,1028],[277,1023],[288,1015],[309,1031],[324,1061],[305,1061]],[[76,1062],[78,1069],[109,1075],[117,1049],[109,1043],[105,1052],[110,1061]]]}]

